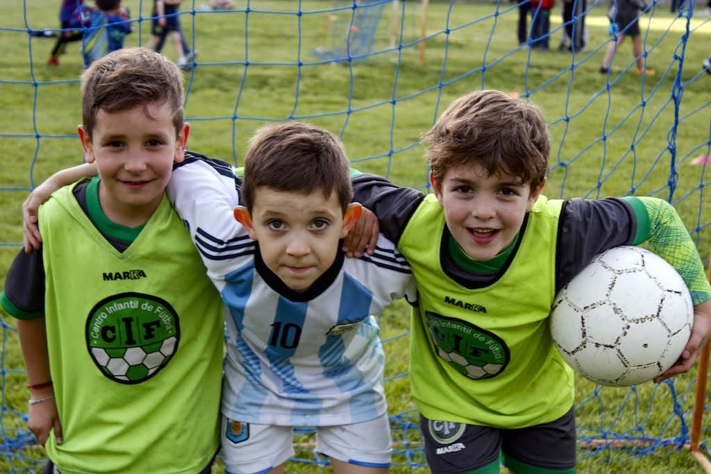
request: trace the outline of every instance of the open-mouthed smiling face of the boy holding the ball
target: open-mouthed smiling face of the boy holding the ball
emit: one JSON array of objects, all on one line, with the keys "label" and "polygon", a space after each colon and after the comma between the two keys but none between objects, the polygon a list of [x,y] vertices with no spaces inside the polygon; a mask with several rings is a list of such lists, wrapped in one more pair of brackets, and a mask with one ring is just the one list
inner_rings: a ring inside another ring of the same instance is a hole
[{"label": "open-mouthed smiling face of the boy holding the ball", "polygon": [[444,209],[449,232],[475,260],[489,260],[508,249],[533,208],[543,185],[533,193],[515,176],[489,176],[479,165],[451,168],[434,194]]}]

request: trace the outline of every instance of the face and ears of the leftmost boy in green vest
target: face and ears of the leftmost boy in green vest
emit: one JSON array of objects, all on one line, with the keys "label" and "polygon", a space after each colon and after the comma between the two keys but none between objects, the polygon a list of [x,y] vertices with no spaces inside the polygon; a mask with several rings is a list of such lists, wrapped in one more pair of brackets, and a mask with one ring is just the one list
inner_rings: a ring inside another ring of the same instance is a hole
[{"label": "face and ears of the leftmost boy in green vest", "polygon": [[188,125],[176,137],[168,104],[100,110],[92,136],[79,127],[86,161],[96,162],[101,177],[99,199],[105,215],[136,227],[161,203],[173,162],[181,161]]}]

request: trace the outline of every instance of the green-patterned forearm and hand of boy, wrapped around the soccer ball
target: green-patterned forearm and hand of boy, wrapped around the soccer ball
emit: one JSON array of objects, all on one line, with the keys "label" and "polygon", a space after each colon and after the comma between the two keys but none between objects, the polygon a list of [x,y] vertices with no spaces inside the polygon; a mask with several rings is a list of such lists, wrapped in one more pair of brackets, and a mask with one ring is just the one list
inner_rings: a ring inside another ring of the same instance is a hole
[{"label": "green-patterned forearm and hand of boy, wrapped around the soccer ball", "polygon": [[[676,210],[666,201],[640,197],[649,217],[649,249],[669,262],[689,289],[694,304],[691,336],[679,360],[655,382],[688,372],[711,336],[711,285],[699,252]],[[646,223],[643,223],[646,225]]]}]

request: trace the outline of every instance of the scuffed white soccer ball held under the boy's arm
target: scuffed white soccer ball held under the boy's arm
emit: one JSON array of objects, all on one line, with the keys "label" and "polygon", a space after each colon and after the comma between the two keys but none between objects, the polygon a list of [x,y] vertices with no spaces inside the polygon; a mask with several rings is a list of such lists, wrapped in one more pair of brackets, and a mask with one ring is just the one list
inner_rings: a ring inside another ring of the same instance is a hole
[{"label": "scuffed white soccer ball held under the boy's arm", "polygon": [[640,384],[678,360],[693,303],[673,266],[639,247],[599,254],[555,297],[550,331],[563,359],[592,382]]}]

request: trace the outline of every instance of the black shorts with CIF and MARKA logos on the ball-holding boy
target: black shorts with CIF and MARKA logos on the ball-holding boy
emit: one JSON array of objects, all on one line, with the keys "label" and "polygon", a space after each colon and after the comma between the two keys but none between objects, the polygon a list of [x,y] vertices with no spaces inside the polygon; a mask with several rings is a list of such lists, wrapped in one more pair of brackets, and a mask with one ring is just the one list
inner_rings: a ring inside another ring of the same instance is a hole
[{"label": "black shorts with CIF and MARKA logos on the ball-holding boy", "polygon": [[573,408],[550,423],[520,429],[499,429],[450,421],[429,420],[420,415],[427,464],[434,474],[464,474],[492,466],[498,460],[517,474],[526,466],[552,472],[573,472],[577,463]]}]

